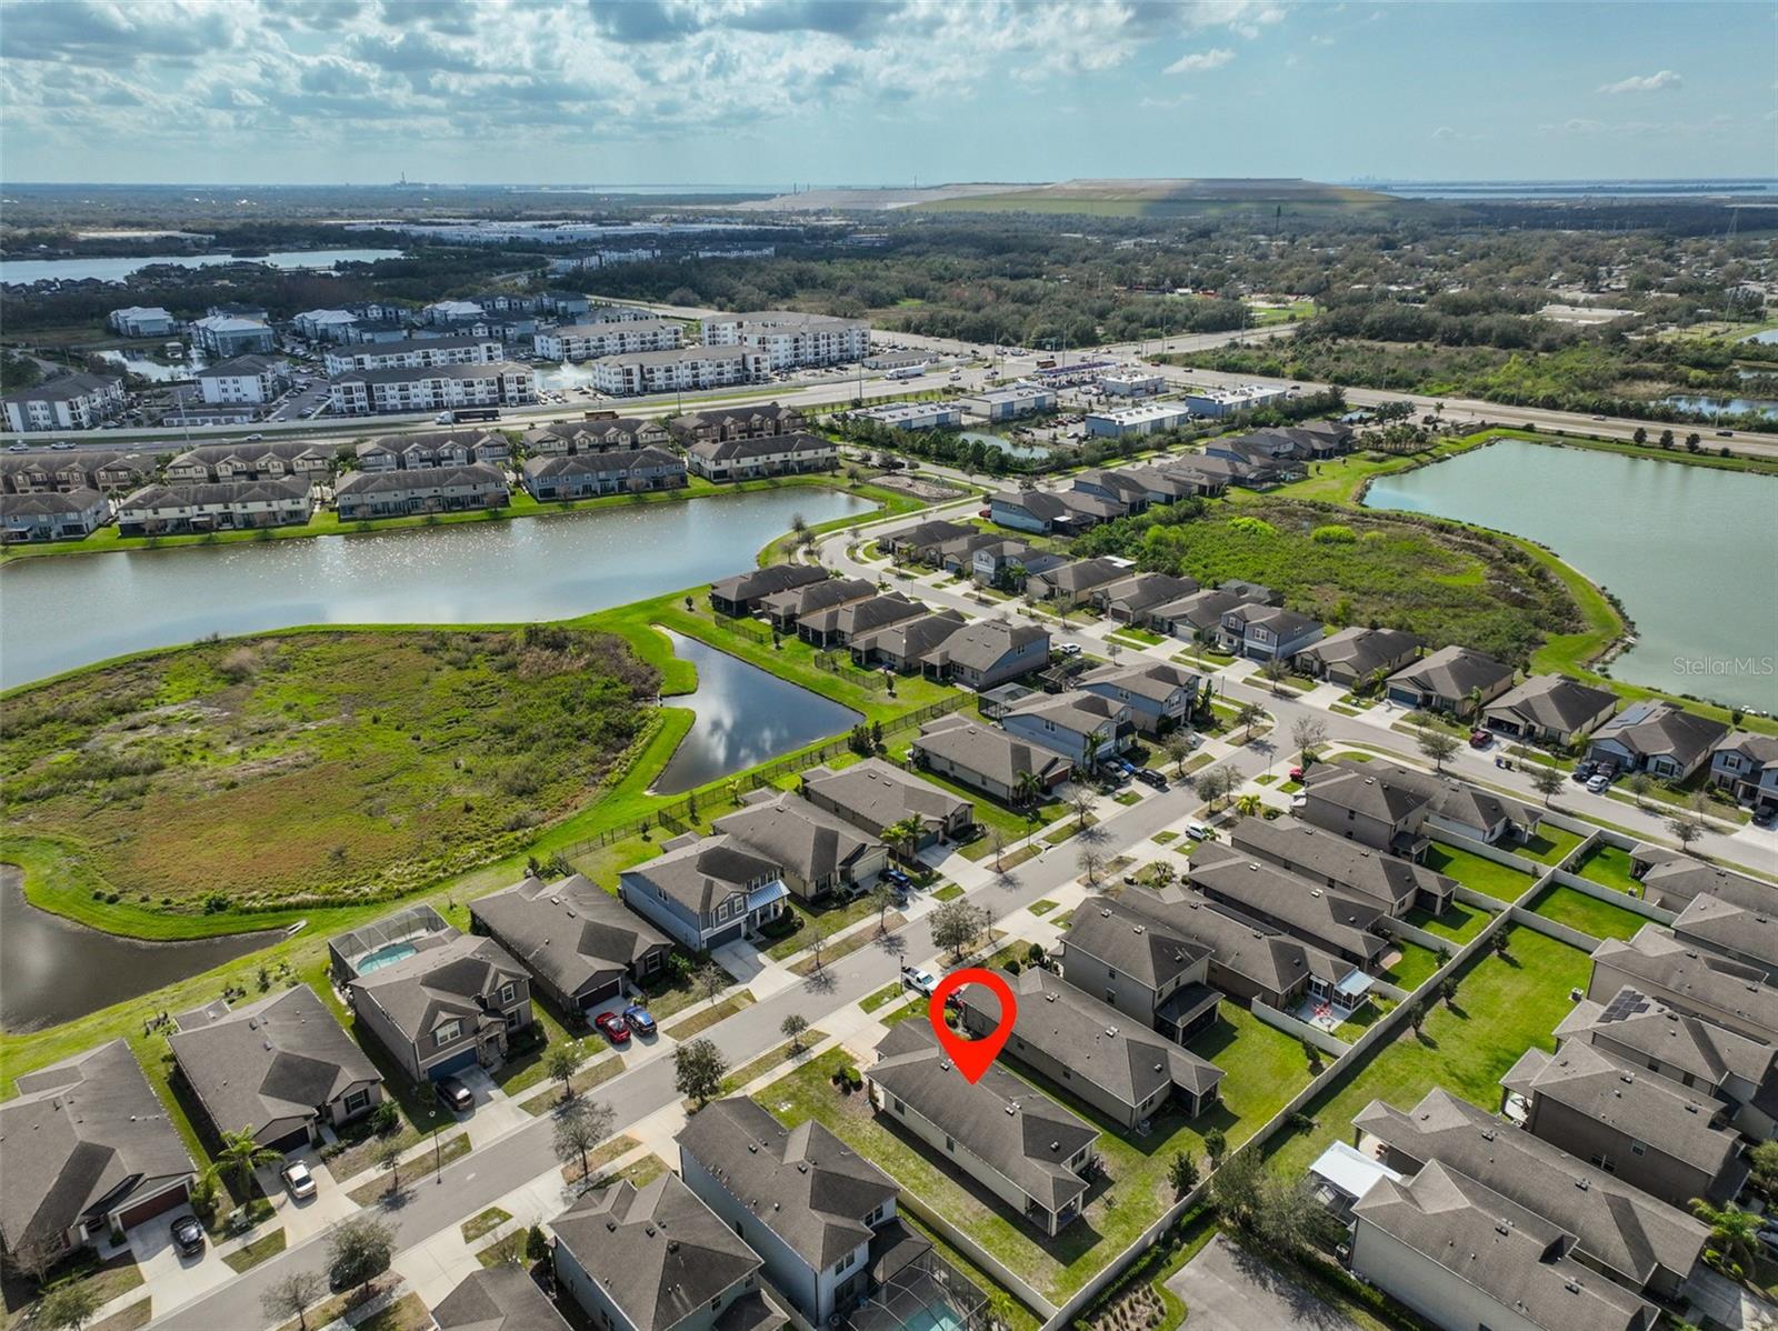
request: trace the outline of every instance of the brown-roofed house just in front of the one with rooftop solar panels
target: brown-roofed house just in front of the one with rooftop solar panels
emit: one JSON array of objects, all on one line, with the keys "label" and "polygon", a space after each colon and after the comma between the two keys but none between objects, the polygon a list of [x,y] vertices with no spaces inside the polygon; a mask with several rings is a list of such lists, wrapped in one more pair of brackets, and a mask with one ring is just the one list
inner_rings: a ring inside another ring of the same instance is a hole
[{"label": "brown-roofed house just in front of the one with rooftop solar panels", "polygon": [[1728,1201],[1748,1178],[1726,1105],[1593,1045],[1527,1048],[1501,1086],[1526,1132],[1675,1207]]}]

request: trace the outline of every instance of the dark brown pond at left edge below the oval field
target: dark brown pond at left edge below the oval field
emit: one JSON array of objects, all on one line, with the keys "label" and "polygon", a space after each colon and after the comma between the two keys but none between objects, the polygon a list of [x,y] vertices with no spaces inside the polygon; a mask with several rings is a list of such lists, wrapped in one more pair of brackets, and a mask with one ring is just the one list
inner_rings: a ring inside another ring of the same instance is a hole
[{"label": "dark brown pond at left edge below the oval field", "polygon": [[151,993],[283,936],[272,929],[176,944],[121,938],[37,910],[23,883],[16,865],[0,865],[0,1025],[14,1034]]}]

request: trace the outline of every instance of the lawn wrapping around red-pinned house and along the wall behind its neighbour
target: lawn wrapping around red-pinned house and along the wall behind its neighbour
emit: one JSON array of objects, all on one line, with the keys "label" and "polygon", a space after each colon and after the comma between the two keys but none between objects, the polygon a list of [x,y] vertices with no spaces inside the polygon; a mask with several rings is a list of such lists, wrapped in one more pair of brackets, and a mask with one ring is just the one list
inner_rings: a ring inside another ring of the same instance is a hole
[{"label": "lawn wrapping around red-pinned house and along the wall behind its neighbour", "polygon": [[1227,1072],[1223,1104],[1197,1121],[1179,1114],[1154,1120],[1147,1137],[1125,1136],[1058,1086],[1026,1073],[1038,1089],[1101,1128],[1099,1150],[1109,1185],[1095,1189],[1083,1219],[1045,1239],[1001,1201],[960,1175],[912,1136],[887,1127],[862,1095],[843,1096],[829,1079],[848,1063],[843,1050],[811,1059],[754,1098],[784,1123],[814,1118],[843,1141],[887,1169],[905,1189],[958,1224],[971,1239],[1031,1281],[1045,1297],[1065,1299],[1120,1253],[1172,1199],[1166,1168],[1179,1150],[1204,1159],[1202,1132],[1218,1127],[1230,1144],[1252,1136],[1309,1080],[1296,1040],[1262,1025],[1245,1009],[1225,1004],[1223,1020],[1191,1043]]}]

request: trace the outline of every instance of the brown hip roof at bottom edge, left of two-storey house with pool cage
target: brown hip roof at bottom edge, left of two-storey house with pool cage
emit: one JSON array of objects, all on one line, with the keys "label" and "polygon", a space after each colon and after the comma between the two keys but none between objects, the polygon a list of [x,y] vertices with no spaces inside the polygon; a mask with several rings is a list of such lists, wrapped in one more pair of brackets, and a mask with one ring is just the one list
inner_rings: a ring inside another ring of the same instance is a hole
[{"label": "brown hip roof at bottom edge, left of two-storey house with pool cage", "polygon": [[759,1256],[677,1175],[587,1192],[549,1228],[638,1331],[667,1331],[759,1271]]}]

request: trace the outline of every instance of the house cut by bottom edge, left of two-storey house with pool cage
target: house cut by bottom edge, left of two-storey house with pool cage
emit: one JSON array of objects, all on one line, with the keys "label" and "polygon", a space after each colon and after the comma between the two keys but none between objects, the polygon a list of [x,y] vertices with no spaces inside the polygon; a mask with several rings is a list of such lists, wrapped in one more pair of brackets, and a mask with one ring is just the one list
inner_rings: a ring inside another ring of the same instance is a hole
[{"label": "house cut by bottom edge, left of two-storey house with pool cage", "polygon": [[665,1173],[583,1192],[549,1221],[564,1297],[603,1331],[775,1331],[759,1255]]}]

